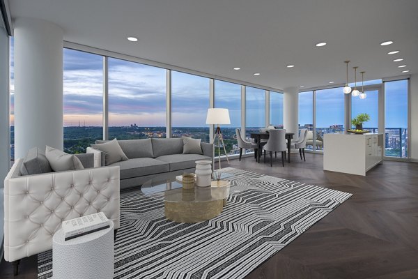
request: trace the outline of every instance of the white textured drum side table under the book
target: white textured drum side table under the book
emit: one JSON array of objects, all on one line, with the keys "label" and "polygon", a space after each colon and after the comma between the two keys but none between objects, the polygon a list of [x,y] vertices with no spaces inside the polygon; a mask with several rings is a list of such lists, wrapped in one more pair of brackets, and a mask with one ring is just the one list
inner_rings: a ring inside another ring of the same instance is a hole
[{"label": "white textured drum side table under the book", "polygon": [[114,223],[98,232],[64,241],[62,229],[52,237],[54,279],[114,278]]}]

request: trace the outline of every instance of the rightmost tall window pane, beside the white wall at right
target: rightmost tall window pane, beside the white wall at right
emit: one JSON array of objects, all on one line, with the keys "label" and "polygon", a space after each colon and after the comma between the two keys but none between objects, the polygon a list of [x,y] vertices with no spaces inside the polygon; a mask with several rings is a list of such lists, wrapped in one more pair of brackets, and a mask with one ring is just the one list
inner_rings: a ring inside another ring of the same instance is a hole
[{"label": "rightmost tall window pane, beside the white wall at right", "polygon": [[385,82],[385,156],[408,157],[408,80]]}]

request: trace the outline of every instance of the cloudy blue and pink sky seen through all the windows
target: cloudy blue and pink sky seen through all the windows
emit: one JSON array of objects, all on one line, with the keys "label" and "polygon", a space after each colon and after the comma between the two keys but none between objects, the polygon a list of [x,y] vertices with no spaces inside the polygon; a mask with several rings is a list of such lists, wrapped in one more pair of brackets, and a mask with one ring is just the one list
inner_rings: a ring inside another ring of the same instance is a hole
[{"label": "cloudy blue and pink sky seen through all the windows", "polygon": [[[13,40],[10,47],[11,121],[14,110]],[[102,56],[76,50],[63,50],[64,126],[102,126]],[[172,71],[172,125],[206,126],[209,107],[209,79]],[[368,84],[369,82],[365,82]],[[387,82],[387,127],[407,127],[408,82]],[[241,124],[241,86],[215,81],[215,107],[226,107],[230,127]],[[300,93],[299,123],[312,121],[312,93]],[[247,127],[265,126],[264,90],[247,86]],[[316,126],[330,127],[344,122],[344,101],[341,88],[318,90],[316,94]],[[366,127],[378,127],[378,93],[368,92],[365,100],[353,98],[353,117],[367,112],[371,121]],[[109,126],[165,126],[166,70],[140,63],[109,58]],[[283,123],[283,94],[270,93],[270,123]]]}]

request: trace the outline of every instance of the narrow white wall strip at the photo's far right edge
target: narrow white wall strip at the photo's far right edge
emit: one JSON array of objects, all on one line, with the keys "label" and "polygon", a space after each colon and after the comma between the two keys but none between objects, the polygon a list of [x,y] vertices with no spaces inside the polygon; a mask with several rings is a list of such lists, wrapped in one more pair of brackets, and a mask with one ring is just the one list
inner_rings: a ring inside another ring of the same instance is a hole
[{"label": "narrow white wall strip at the photo's far right edge", "polygon": [[411,160],[418,162],[418,74],[410,77]]}]

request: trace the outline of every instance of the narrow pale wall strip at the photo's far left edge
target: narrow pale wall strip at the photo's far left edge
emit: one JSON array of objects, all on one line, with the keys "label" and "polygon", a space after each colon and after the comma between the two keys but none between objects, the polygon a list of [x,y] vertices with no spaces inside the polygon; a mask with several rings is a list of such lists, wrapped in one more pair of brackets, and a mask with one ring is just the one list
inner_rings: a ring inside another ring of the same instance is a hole
[{"label": "narrow pale wall strip at the photo's far left edge", "polygon": [[[10,128],[9,128],[9,41],[6,30],[0,27],[0,188],[10,167]],[[1,196],[1,194],[0,194]],[[1,201],[1,199],[0,199]],[[1,202],[0,202],[1,204]],[[0,209],[1,211],[1,209]],[[2,229],[0,228],[0,231]],[[1,236],[2,234],[0,234]]]}]

